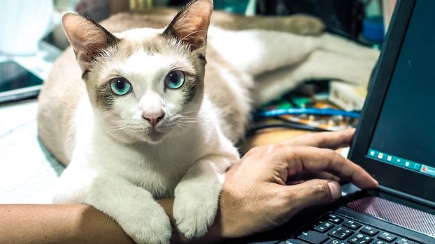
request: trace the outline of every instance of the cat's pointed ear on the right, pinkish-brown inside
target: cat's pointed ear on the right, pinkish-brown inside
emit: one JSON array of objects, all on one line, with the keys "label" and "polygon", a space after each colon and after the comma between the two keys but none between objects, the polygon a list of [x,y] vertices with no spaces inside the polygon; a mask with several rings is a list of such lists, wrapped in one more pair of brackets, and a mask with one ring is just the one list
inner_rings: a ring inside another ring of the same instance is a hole
[{"label": "cat's pointed ear on the right, pinkish-brown inside", "polygon": [[204,47],[212,13],[212,0],[193,0],[173,18],[163,34],[189,45],[192,51]]}]

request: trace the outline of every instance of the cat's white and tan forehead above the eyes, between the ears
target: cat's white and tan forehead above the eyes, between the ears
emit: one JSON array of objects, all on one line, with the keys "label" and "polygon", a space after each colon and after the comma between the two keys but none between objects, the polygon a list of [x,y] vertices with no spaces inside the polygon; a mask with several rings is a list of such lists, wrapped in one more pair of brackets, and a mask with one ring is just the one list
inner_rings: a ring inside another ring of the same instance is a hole
[{"label": "cat's white and tan forehead above the eyes, between the ears", "polygon": [[98,85],[114,74],[145,78],[171,70],[197,74],[197,56],[175,39],[162,35],[163,29],[131,29],[116,33],[119,43],[94,63]]}]

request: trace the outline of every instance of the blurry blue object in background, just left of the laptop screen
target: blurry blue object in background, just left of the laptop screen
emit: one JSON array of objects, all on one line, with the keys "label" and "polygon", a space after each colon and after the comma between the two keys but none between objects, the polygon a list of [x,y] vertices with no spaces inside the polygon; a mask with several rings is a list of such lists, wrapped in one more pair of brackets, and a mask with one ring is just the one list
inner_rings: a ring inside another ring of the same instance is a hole
[{"label": "blurry blue object in background, just left of the laptop screen", "polygon": [[382,16],[365,17],[362,21],[362,36],[371,43],[384,40],[384,19]]}]

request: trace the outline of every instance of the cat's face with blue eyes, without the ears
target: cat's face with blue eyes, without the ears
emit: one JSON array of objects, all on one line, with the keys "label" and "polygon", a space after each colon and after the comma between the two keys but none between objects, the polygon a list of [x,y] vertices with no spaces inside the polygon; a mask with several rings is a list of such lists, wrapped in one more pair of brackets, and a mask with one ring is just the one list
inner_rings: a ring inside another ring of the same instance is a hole
[{"label": "cat's face with blue eyes, without the ears", "polygon": [[117,35],[119,42],[85,77],[94,110],[117,138],[157,143],[197,118],[205,60],[161,33],[134,29]]}]

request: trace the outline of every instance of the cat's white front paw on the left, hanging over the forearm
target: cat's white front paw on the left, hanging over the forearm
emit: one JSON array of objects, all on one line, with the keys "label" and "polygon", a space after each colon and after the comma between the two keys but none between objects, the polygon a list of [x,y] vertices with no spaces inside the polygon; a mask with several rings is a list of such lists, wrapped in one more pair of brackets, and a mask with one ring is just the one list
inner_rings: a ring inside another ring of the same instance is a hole
[{"label": "cat's white front paw on the left, hanging over the forearm", "polygon": [[169,244],[171,241],[171,222],[162,207],[152,209],[147,215],[123,221],[121,226],[136,243]]}]

